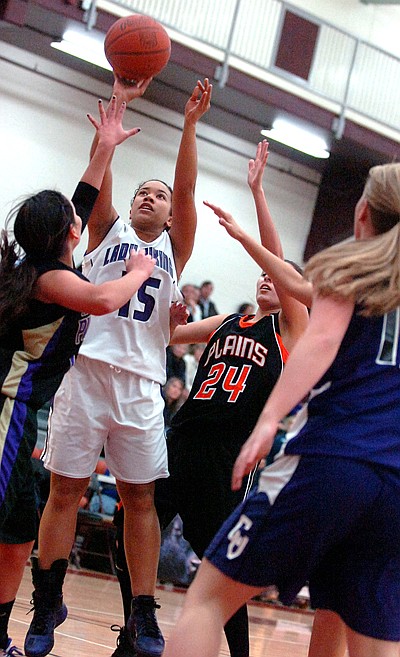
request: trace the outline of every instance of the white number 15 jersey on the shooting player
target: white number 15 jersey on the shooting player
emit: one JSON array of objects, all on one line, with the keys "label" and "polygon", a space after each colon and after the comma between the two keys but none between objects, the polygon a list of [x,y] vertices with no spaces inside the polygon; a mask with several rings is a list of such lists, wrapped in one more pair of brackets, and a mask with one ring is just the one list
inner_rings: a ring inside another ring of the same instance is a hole
[{"label": "white number 15 jersey on the shooting player", "polygon": [[169,310],[173,301],[182,300],[168,233],[143,242],[118,218],[101,244],[85,254],[83,272],[97,285],[118,279],[126,271],[125,259],[132,248],[144,249],[155,258],[154,271],[122,308],[91,317],[80,353],[164,384]]}]

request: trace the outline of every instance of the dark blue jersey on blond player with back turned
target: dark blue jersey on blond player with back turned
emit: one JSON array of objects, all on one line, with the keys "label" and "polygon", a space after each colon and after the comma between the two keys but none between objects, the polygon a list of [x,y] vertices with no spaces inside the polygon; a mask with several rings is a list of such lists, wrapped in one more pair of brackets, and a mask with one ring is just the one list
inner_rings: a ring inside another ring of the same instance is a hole
[{"label": "dark blue jersey on blond player with back turned", "polygon": [[288,434],[287,454],[327,454],[400,468],[400,308],[354,313],[334,363]]}]

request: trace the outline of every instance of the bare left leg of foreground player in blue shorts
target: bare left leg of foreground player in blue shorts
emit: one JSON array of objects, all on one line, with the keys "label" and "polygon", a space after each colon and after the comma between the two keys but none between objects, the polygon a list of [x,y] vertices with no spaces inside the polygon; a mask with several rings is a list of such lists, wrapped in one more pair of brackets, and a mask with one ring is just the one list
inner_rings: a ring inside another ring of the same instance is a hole
[{"label": "bare left leg of foreground player in blue shorts", "polygon": [[164,657],[216,657],[228,619],[261,591],[235,582],[203,559],[185,596],[182,614],[168,639]]}]

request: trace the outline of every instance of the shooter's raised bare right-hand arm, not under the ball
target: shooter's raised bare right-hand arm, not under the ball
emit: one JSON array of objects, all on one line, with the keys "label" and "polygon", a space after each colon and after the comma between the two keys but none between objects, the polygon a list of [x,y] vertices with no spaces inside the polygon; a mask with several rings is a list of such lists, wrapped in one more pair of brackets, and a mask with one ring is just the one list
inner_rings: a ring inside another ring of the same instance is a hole
[{"label": "shooter's raised bare right-hand arm, not under the ball", "polygon": [[195,187],[197,179],[196,126],[210,108],[212,84],[198,80],[185,107],[185,121],[175,167],[170,236],[178,276],[193,250],[197,224]]}]

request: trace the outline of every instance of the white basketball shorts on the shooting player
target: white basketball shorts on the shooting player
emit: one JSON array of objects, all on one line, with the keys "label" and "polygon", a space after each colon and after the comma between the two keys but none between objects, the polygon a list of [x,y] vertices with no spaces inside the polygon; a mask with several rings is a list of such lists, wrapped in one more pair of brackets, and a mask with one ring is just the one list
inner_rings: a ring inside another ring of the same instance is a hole
[{"label": "white basketball shorts on the shooting player", "polygon": [[104,447],[116,479],[146,484],[168,477],[163,410],[159,383],[78,356],[54,398],[44,465],[89,477]]}]

